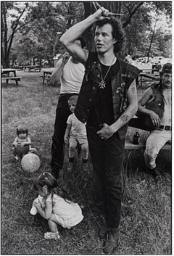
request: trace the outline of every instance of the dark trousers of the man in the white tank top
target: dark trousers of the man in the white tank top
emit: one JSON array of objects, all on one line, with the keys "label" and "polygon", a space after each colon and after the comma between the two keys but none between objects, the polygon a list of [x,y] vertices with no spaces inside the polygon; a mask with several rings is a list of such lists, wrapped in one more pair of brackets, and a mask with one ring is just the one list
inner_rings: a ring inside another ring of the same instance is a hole
[{"label": "dark trousers of the man in the white tank top", "polygon": [[72,95],[77,94],[61,94],[57,104],[54,135],[52,136],[51,146],[51,169],[54,176],[59,175],[59,170],[62,169],[64,162],[64,135],[67,128],[67,117],[72,114],[67,100]]}]

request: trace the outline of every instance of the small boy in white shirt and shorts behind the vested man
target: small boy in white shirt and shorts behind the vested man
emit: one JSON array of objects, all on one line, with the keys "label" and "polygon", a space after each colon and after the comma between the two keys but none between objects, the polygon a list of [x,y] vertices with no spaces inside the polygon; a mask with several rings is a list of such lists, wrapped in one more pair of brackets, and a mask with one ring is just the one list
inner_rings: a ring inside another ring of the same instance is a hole
[{"label": "small boy in white shirt and shorts behind the vested man", "polygon": [[[83,170],[87,171],[88,162],[88,140],[86,135],[86,125],[80,122],[74,114],[75,105],[78,100],[78,95],[71,96],[68,99],[68,105],[72,115],[67,118],[67,128],[65,131],[64,141],[68,143],[69,141],[69,165],[67,167],[68,171],[72,170],[75,149],[80,144],[82,158],[83,158]],[[69,138],[70,137],[70,138]]]}]

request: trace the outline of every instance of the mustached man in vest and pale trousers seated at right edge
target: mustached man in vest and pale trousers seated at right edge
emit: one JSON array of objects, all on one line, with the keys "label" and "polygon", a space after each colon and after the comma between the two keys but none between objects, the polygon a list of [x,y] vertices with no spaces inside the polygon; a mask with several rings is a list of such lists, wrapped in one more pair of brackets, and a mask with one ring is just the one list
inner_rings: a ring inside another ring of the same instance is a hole
[{"label": "mustached man in vest and pale trousers seated at right edge", "polygon": [[145,125],[151,131],[146,140],[144,157],[146,168],[154,178],[158,176],[157,154],[167,141],[171,141],[172,64],[165,64],[160,75],[160,82],[147,88],[138,102],[138,114],[145,115]]}]

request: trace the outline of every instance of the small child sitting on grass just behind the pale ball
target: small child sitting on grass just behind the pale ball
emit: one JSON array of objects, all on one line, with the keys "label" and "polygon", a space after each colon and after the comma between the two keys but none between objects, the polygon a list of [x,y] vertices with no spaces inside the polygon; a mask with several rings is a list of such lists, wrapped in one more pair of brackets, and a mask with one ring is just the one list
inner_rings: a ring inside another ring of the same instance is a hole
[{"label": "small child sitting on grass just behind the pale ball", "polygon": [[36,152],[35,148],[31,148],[31,140],[28,136],[28,128],[24,125],[17,127],[17,137],[13,141],[14,154],[11,154],[13,160],[19,160],[28,152]]}]

